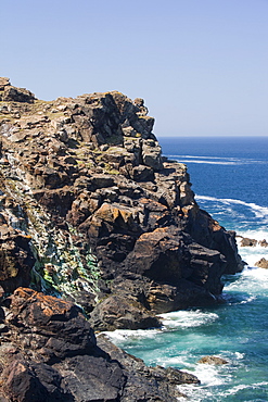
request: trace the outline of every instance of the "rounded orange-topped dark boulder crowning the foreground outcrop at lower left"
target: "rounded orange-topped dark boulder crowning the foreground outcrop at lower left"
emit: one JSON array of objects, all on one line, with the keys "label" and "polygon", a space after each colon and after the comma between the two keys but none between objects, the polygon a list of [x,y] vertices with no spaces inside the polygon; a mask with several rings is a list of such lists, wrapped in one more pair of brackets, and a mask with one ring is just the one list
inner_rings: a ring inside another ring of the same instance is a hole
[{"label": "rounded orange-topped dark boulder crowning the foreground outcrop at lower left", "polygon": [[7,322],[16,328],[31,328],[28,339],[23,330],[17,339],[37,361],[56,362],[95,347],[92,329],[72,303],[18,288],[11,297],[11,309]]}]

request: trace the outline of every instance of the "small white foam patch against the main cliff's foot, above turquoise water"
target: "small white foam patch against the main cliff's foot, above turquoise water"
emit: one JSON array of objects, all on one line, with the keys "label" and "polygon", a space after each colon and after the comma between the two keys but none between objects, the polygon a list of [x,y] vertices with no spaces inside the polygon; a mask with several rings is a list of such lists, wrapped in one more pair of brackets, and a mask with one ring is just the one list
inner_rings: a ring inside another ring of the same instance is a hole
[{"label": "small white foam patch against the main cliff's foot, above turquoise water", "polygon": [[199,327],[218,319],[216,313],[206,313],[201,310],[195,311],[177,311],[161,314],[162,323],[166,328],[190,328]]}]

